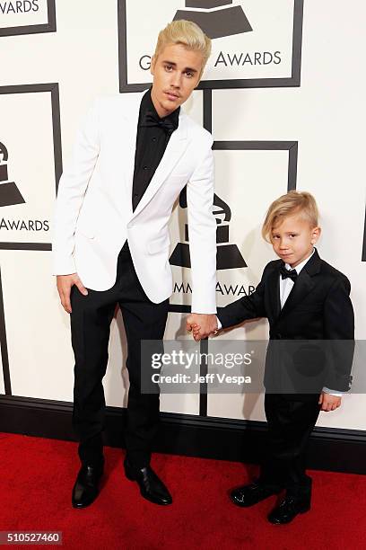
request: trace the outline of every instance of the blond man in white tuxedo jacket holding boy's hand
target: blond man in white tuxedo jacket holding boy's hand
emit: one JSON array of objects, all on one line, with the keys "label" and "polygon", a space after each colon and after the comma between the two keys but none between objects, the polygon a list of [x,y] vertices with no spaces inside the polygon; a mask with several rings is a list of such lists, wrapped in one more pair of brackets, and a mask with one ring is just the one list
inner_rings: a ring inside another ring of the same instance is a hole
[{"label": "blond man in white tuxedo jacket holding boy's hand", "polygon": [[73,426],[82,467],[74,508],[90,505],[99,493],[101,380],[117,304],[126,328],[130,380],[126,476],[147,500],[172,501],[150,466],[159,395],[141,392],[140,347],[143,340],[161,340],[165,330],[172,292],[168,222],[186,184],[191,323],[201,326],[201,336],[215,328],[213,139],[180,111],[210,52],[211,40],[195,23],[171,22],[159,34],[152,88],[95,102],[60,180],[53,251],[58,293],[71,314],[75,357]]}]

